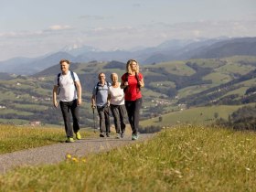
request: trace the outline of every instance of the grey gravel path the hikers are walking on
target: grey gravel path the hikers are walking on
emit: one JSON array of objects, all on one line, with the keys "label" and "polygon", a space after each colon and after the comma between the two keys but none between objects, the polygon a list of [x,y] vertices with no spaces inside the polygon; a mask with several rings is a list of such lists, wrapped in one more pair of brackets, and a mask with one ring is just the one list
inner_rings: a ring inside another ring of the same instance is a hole
[{"label": "grey gravel path the hikers are walking on", "polygon": [[[141,142],[152,137],[153,134],[140,134]],[[126,136],[123,139],[109,138],[86,138],[75,143],[52,144],[23,151],[17,151],[5,155],[0,155],[0,174],[5,174],[8,170],[18,166],[26,165],[48,165],[56,164],[63,160],[67,154],[74,156],[86,156],[91,153],[108,151],[112,148],[132,144],[131,137]]]}]

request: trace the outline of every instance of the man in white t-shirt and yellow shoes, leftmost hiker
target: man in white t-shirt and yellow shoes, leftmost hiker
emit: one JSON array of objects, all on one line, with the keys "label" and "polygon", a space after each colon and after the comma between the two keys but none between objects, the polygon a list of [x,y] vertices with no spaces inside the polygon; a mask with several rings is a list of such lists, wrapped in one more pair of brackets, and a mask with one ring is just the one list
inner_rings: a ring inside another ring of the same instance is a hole
[{"label": "man in white t-shirt and yellow shoes, leftmost hiker", "polygon": [[[59,94],[59,105],[63,115],[65,131],[67,134],[67,143],[74,142],[73,132],[76,138],[80,139],[79,124],[79,105],[81,104],[81,86],[78,75],[69,70],[69,60],[61,59],[59,61],[61,73],[57,76],[52,91],[53,105],[57,108],[57,95]],[[73,117],[73,128],[70,122],[70,112]]]}]

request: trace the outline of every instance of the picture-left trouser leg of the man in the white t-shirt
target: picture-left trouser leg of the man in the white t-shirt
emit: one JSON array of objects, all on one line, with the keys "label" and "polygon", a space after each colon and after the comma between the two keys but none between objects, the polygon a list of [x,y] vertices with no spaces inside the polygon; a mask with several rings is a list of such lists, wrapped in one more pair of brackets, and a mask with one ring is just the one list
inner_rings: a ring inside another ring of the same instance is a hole
[{"label": "picture-left trouser leg of the man in the white t-shirt", "polygon": [[73,131],[71,128],[71,123],[70,123],[69,102],[59,101],[59,105],[60,105],[60,109],[62,112],[67,137],[73,137]]}]

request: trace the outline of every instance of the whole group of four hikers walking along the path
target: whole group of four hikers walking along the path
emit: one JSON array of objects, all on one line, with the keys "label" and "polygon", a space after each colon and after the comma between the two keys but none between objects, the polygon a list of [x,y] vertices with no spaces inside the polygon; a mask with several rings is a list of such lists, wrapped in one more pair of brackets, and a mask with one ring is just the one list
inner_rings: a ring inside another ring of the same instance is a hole
[{"label": "whole group of four hikers walking along the path", "polygon": [[[69,60],[59,61],[61,72],[57,75],[53,88],[53,105],[60,106],[67,143],[74,142],[75,137],[80,140],[81,85],[77,73],[69,70]],[[138,139],[140,109],[142,107],[141,88],[144,87],[143,74],[139,72],[139,63],[129,59],[126,63],[126,72],[118,80],[117,73],[111,74],[112,82],[106,81],[103,72],[98,75],[99,81],[93,87],[91,108],[97,110],[100,117],[100,137],[110,137],[110,111],[116,131],[116,138],[123,138],[125,133],[126,116],[132,128],[132,140]],[[59,103],[57,97],[59,96]],[[71,118],[73,126],[71,126]],[[95,122],[94,122],[95,123]],[[95,126],[95,124],[94,124]]]}]

